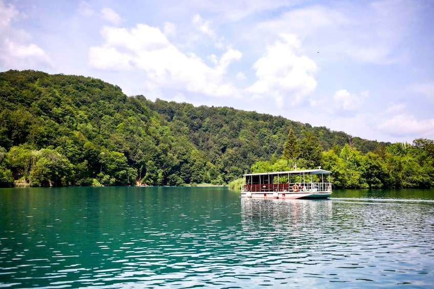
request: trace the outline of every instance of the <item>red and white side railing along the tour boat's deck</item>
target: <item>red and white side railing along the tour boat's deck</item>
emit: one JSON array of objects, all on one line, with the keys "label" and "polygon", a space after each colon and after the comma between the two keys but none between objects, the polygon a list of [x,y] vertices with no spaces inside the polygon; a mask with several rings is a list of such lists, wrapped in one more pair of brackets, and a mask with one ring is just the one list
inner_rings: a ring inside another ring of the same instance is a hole
[{"label": "red and white side railing along the tour boat's deck", "polygon": [[331,183],[247,184],[243,192],[330,192]]}]

